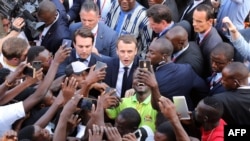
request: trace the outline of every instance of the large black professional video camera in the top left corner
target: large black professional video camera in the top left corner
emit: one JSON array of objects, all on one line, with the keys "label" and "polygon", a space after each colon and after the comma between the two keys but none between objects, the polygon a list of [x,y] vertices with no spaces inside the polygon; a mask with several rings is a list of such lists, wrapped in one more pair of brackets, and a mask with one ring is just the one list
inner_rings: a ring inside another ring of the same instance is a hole
[{"label": "large black professional video camera in the top left corner", "polygon": [[42,32],[44,22],[37,22],[35,13],[41,0],[1,0],[0,13],[11,18],[22,17],[25,20],[24,31],[36,38]]}]

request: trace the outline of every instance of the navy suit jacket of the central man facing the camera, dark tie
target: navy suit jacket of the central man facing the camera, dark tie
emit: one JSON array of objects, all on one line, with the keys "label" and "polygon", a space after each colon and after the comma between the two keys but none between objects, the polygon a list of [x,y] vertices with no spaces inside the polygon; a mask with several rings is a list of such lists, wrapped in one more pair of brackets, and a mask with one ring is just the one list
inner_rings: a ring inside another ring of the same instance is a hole
[{"label": "navy suit jacket of the central man facing the camera, dark tie", "polygon": [[[117,57],[111,58],[108,61],[106,61],[108,68],[106,69],[106,77],[104,82],[112,88],[116,88],[117,81],[122,81],[122,80],[117,80],[120,67],[119,61],[120,60]],[[139,57],[136,56],[128,75],[128,84],[126,85],[127,90],[132,88],[133,73],[138,66],[139,66]]]}]

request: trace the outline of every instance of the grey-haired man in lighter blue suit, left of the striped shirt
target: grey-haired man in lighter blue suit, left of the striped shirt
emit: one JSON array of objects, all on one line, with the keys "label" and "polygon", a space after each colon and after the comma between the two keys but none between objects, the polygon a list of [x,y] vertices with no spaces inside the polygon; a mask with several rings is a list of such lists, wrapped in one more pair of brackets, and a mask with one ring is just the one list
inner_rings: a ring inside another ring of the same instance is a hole
[{"label": "grey-haired man in lighter blue suit, left of the striped shirt", "polygon": [[115,57],[118,35],[103,22],[99,22],[98,6],[93,1],[86,1],[81,7],[80,17],[81,22],[70,25],[71,33],[80,27],[90,28],[95,37],[92,52],[104,58]]}]

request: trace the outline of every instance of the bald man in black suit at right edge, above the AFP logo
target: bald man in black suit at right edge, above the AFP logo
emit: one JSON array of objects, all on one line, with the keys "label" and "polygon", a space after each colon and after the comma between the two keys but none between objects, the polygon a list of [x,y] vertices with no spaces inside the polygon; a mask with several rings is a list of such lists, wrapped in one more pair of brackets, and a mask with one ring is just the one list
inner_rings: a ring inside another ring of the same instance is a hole
[{"label": "bald man in black suit at right edge, above the AFP logo", "polygon": [[241,62],[232,62],[222,70],[222,85],[227,91],[213,97],[223,104],[222,118],[228,125],[250,125],[248,75]]}]

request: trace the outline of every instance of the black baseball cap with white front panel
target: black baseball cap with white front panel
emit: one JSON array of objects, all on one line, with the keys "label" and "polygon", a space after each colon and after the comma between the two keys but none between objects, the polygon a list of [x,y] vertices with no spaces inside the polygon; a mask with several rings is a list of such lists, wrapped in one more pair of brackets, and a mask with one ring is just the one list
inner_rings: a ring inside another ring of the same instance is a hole
[{"label": "black baseball cap with white front panel", "polygon": [[72,62],[71,64],[67,65],[65,68],[66,76],[70,76],[72,74],[79,75],[84,71],[89,71],[89,67],[80,61]]}]

